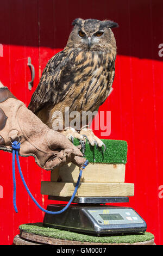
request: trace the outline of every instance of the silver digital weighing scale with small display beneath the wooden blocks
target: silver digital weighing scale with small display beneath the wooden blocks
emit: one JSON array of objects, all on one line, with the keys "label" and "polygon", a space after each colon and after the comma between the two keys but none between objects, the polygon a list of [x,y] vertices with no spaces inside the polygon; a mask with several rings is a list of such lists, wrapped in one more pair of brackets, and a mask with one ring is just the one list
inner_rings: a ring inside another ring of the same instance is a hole
[{"label": "silver digital weighing scale with small display beneath the wooden blocks", "polygon": [[[68,201],[70,198],[49,196],[48,199]],[[147,225],[137,212],[129,207],[105,203],[128,202],[128,197],[77,197],[65,212],[45,214],[43,225],[96,235],[138,233]],[[60,211],[63,204],[50,204],[48,211]]]}]

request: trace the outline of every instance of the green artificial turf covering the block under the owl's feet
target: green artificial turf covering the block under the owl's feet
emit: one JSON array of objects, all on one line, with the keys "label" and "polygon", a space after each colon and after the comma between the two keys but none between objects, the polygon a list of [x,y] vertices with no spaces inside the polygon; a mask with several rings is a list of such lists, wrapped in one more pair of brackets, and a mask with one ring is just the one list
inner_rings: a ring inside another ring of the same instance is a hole
[{"label": "green artificial turf covering the block under the owl's feet", "polygon": [[[96,145],[92,147],[88,142],[85,144],[85,158],[89,162],[96,163],[127,163],[127,142],[117,141],[114,139],[101,139],[106,145],[96,149]],[[74,145],[79,145],[79,140],[74,139]]]}]

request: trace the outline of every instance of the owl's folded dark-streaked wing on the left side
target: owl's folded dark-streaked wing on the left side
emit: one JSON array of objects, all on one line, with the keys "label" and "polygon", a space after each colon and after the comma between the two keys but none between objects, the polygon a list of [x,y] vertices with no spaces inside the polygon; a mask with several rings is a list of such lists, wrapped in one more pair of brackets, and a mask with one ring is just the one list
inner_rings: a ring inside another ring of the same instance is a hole
[{"label": "owl's folded dark-streaked wing on the left side", "polygon": [[28,108],[35,114],[47,105],[55,105],[66,95],[72,63],[64,51],[55,54],[42,72]]}]

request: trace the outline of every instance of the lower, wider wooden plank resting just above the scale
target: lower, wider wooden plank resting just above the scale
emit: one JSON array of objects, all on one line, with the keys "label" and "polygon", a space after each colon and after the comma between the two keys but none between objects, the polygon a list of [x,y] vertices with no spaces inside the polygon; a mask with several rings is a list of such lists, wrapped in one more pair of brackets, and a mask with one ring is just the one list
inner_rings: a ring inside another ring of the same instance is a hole
[{"label": "lower, wider wooden plank resting just above the scale", "polygon": [[[41,182],[41,194],[49,196],[70,197],[76,183],[66,182]],[[132,183],[91,183],[80,182],[76,196],[78,197],[118,197],[134,196]]]}]

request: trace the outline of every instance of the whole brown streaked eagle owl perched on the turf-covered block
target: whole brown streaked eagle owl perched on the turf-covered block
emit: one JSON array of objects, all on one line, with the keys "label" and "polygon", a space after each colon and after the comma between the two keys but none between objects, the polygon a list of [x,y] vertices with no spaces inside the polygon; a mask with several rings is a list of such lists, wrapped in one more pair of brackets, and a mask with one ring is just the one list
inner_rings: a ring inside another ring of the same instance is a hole
[{"label": "whole brown streaked eagle owl perched on the turf-covered block", "polygon": [[87,138],[92,146],[102,147],[103,142],[87,123],[83,127],[81,121],[78,130],[65,125],[65,108],[80,115],[83,111],[98,111],[108,97],[116,59],[116,40],[111,28],[118,24],[78,18],[72,25],[66,47],[48,61],[28,108],[51,129],[56,119],[54,113],[61,112],[61,132],[70,140],[75,137],[84,142]]}]

